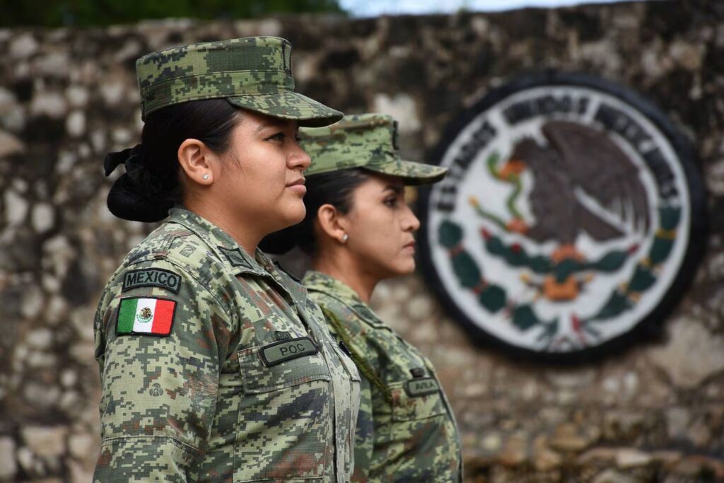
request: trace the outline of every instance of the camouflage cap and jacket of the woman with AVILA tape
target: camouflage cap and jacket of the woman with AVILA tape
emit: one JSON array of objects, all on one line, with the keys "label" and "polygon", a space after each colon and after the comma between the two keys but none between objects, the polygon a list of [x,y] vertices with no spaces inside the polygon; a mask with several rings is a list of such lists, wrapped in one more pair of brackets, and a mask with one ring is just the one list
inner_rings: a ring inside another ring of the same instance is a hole
[{"label": "camouflage cap and jacket of the woman with AVILA tape", "polygon": [[[348,116],[300,135],[312,159],[309,185],[313,175],[350,168],[400,177],[408,185],[434,182],[447,172],[400,159],[390,116]],[[353,481],[462,481],[458,428],[430,361],[339,280],[308,272],[303,284],[362,374]]]}]

